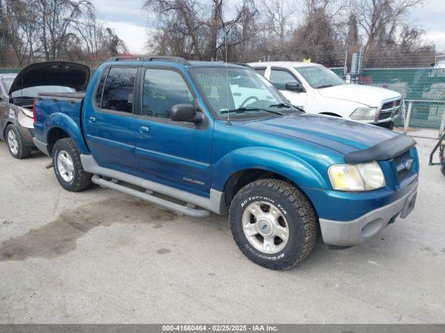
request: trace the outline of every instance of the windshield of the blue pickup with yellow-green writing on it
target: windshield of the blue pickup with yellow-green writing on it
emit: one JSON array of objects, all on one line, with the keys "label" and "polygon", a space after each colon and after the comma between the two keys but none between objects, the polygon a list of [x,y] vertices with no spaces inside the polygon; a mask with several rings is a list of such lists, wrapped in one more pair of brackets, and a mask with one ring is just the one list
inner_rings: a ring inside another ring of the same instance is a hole
[{"label": "windshield of the blue pickup with yellow-green writing on it", "polygon": [[297,110],[268,80],[252,69],[195,67],[190,72],[218,117],[227,117],[227,113],[232,118]]}]

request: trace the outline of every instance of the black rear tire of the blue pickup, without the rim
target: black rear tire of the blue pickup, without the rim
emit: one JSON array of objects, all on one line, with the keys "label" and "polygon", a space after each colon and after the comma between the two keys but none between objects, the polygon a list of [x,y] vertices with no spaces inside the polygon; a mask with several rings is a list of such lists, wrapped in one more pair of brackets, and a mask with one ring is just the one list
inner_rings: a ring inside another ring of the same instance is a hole
[{"label": "black rear tire of the blue pickup, without the rim", "polygon": [[[58,154],[63,151],[70,155],[71,160],[74,164],[74,177],[72,178],[72,180],[70,180],[70,182],[65,181],[62,176],[60,176],[58,170],[57,157]],[[83,189],[88,189],[88,187],[92,185],[92,174],[83,170],[79,150],[77,149],[76,144],[74,144],[74,141],[71,138],[60,139],[56,142],[56,144],[54,144],[54,147],[52,149],[52,159],[56,178],[59,184],[67,191],[83,191]]]}]

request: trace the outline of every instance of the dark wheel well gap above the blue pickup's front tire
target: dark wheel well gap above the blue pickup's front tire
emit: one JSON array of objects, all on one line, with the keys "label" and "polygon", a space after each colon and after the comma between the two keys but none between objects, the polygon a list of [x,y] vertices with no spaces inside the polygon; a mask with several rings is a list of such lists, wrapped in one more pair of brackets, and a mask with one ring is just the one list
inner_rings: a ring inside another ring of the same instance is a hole
[{"label": "dark wheel well gap above the blue pickup's front tire", "polygon": [[224,198],[225,203],[227,207],[230,207],[230,203],[232,203],[232,200],[234,196],[238,193],[240,189],[245,187],[245,185],[250,184],[250,182],[254,182],[259,179],[265,179],[265,178],[274,178],[274,179],[280,179],[284,180],[286,182],[289,182],[295,186],[297,186],[292,180],[289,178],[286,178],[284,176],[281,176],[278,173],[262,170],[262,169],[245,169],[238,171],[234,173],[232,176],[230,176],[229,180],[227,180],[225,187],[224,187]]}]

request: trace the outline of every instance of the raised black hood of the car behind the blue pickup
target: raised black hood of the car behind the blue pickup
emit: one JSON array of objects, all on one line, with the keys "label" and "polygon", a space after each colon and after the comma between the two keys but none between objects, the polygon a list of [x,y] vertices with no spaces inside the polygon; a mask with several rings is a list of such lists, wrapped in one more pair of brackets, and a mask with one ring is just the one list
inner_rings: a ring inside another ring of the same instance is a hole
[{"label": "raised black hood of the car behind the blue pickup", "polygon": [[39,85],[60,85],[83,91],[88,85],[88,80],[88,66],[66,61],[37,62],[26,66],[17,74],[8,94]]}]

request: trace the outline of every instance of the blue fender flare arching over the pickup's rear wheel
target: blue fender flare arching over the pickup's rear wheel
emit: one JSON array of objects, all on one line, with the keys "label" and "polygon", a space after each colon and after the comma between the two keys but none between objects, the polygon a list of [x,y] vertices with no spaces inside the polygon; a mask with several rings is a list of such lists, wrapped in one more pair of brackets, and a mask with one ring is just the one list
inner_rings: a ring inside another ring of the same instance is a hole
[{"label": "blue fender flare arching over the pickup's rear wheel", "polygon": [[49,142],[48,140],[51,130],[53,130],[54,128],[60,128],[60,130],[64,130],[68,135],[70,135],[71,139],[73,139],[81,154],[90,153],[85,141],[83,140],[80,125],[76,123],[71,117],[67,116],[67,114],[61,112],[54,112],[50,114],[47,119],[46,127],[47,142]]}]

